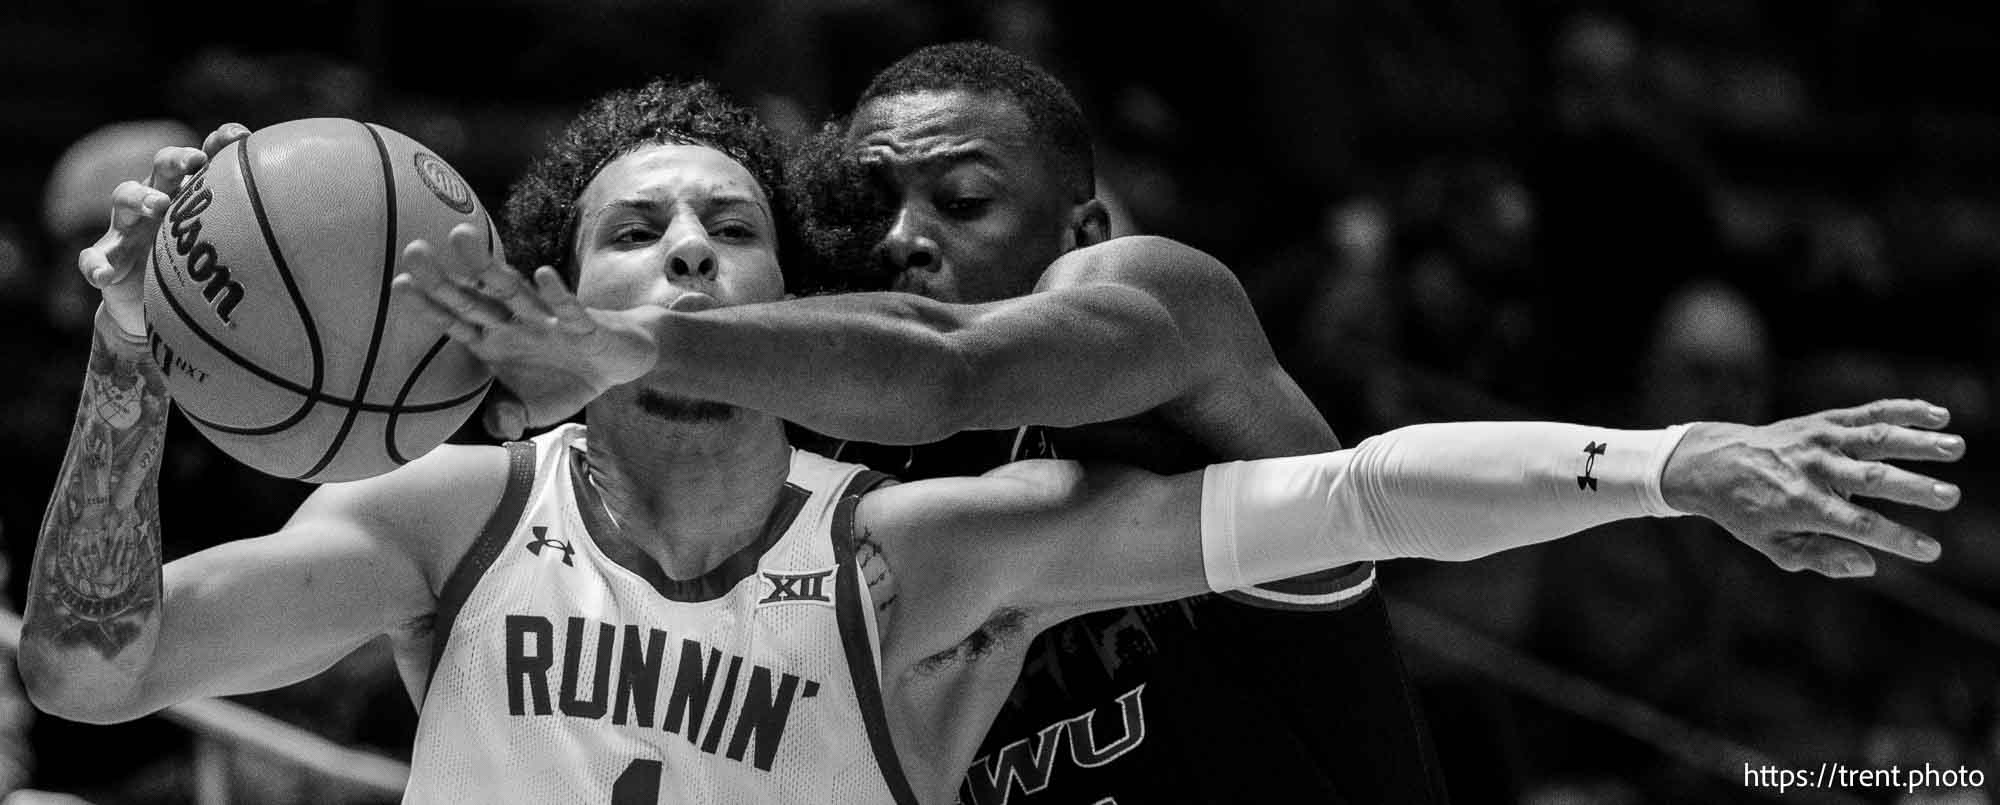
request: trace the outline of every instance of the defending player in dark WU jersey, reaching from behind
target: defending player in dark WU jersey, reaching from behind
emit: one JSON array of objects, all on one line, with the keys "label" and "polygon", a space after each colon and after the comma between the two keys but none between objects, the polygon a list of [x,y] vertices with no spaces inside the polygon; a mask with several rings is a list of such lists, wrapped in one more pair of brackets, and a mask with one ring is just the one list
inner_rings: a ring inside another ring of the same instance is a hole
[{"label": "defending player in dark WU jersey, reaching from behind", "polygon": [[[996,98],[1010,102],[982,104]],[[1024,132],[1052,140],[1056,156],[1030,166],[1006,154]],[[1134,417],[970,431],[918,449],[856,445],[838,453],[846,461],[906,479],[1036,457],[1178,471],[1340,445],[1272,362],[1256,314],[1216,260],[1168,240],[1124,238],[1138,242],[1108,244],[1122,254],[1072,260],[1084,270],[1062,264],[1062,252],[1104,242],[1108,218],[1090,200],[1088,132],[1074,100],[1046,72],[990,46],[926,48],[874,78],[846,134],[894,206],[876,252],[892,286],[946,302],[988,302],[1090,282],[1208,284],[1154,298],[1174,298],[1164,306],[1176,324],[1218,324],[1188,344],[1184,370],[1150,376],[1168,380],[1160,382],[1166,392],[1144,398],[1150,411]],[[1028,176],[1034,168],[1042,176]],[[1070,214],[1056,216],[1062,210]],[[872,234],[866,220],[848,224]],[[1056,266],[1042,272],[1036,260]],[[1172,268],[1144,278],[1120,268],[1146,262]],[[856,290],[876,290],[868,276],[850,280]],[[1046,631],[968,769],[960,801],[1444,801],[1372,575],[1366,565],[1336,569],[1260,591],[1092,613]],[[1328,697],[1330,689],[1346,693]],[[1088,719],[1070,721],[1082,715]],[[1066,729],[1072,745],[1126,751],[1084,765],[1086,753],[1062,753],[1052,729]]]}]

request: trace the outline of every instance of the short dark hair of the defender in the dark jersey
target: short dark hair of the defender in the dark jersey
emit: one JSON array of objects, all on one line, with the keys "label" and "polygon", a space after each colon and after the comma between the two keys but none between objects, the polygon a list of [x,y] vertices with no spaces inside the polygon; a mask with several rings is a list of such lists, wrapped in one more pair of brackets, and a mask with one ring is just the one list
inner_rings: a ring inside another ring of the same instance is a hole
[{"label": "short dark hair of the defender in the dark jersey", "polygon": [[1034,62],[986,42],[950,42],[920,48],[890,64],[868,82],[860,108],[876,98],[910,92],[998,92],[1014,98],[1028,126],[1058,158],[1064,184],[1076,200],[1096,194],[1090,124],[1070,90]]}]

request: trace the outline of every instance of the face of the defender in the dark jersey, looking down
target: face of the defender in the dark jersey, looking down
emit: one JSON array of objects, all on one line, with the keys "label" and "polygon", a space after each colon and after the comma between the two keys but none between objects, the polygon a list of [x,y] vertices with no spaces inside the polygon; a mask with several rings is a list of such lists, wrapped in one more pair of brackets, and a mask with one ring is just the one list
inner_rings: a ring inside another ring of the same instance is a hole
[{"label": "face of the defender in the dark jersey, looking down", "polygon": [[878,258],[896,270],[896,290],[946,302],[1020,296],[1074,244],[1076,202],[1004,94],[876,98],[854,110],[848,140],[890,194]]}]

